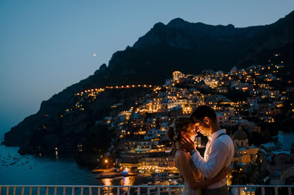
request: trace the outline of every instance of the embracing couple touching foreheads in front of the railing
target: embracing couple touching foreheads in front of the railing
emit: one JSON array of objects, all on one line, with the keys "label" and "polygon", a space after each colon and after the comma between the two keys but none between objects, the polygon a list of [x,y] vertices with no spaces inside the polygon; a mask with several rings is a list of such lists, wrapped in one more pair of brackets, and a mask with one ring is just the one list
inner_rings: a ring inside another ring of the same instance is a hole
[{"label": "embracing couple touching foreheads in front of the railing", "polygon": [[[234,145],[221,129],[210,106],[198,107],[189,117],[179,117],[168,137],[174,146],[175,166],[185,184],[183,195],[228,195],[226,175],[233,160]],[[197,132],[208,136],[204,157],[196,150]]]}]

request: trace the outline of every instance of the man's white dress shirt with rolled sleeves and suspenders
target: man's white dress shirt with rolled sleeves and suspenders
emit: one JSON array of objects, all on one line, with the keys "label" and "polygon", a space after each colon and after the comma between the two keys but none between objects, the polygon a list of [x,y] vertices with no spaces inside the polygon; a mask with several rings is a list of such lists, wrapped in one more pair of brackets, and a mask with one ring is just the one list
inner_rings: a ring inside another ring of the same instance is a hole
[{"label": "man's white dress shirt with rolled sleeves and suspenders", "polygon": [[[228,168],[233,160],[234,144],[232,139],[228,135],[218,137],[218,135],[225,133],[225,131],[225,129],[221,129],[211,134],[206,144],[204,158],[201,157],[198,151],[192,155],[196,168],[207,179],[215,177],[223,167]],[[223,178],[220,182],[207,186],[207,189],[220,188],[225,184],[226,178]]]}]

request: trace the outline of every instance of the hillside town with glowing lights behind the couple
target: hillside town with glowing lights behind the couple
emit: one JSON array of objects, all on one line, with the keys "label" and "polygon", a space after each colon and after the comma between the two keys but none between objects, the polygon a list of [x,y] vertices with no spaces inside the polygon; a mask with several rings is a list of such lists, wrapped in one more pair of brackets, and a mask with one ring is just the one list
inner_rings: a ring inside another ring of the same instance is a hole
[{"label": "hillside town with glowing lights behind the couple", "polygon": [[[254,145],[250,140],[262,135],[258,123],[276,122],[275,117],[294,90],[294,87],[277,87],[276,83],[283,78],[275,73],[283,68],[283,62],[273,65],[269,60],[267,66],[233,67],[230,72],[205,70],[193,75],[175,71],[162,86],[107,86],[106,89],[149,87],[152,92],[136,101],[129,110],[96,121],[96,124],[107,124],[116,130],[108,152],[97,161],[107,168],[118,167],[125,173],[178,175],[173,147],[167,137],[169,126],[175,118],[189,116],[198,106],[209,105],[216,111],[218,123],[227,129],[235,147],[227,184],[248,183],[245,178],[254,178],[250,180],[253,184],[291,184],[294,132],[276,129],[268,143],[258,144],[261,140],[255,140],[257,145]],[[90,89],[75,95],[81,101],[89,98],[90,102],[102,91],[104,89]],[[111,107],[122,104],[118,102]],[[290,106],[293,113],[292,103]],[[83,110],[80,102],[72,109]],[[194,141],[202,154],[206,139],[198,133]],[[82,145],[78,145],[78,151],[83,151]],[[115,159],[109,160],[111,157]]]}]

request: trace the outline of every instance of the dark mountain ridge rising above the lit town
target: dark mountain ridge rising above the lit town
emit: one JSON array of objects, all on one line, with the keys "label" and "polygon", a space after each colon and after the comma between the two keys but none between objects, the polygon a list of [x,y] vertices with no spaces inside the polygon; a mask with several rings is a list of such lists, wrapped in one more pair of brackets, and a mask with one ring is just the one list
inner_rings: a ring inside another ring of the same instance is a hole
[{"label": "dark mountain ridge rising above the lit town", "polygon": [[[5,133],[3,144],[20,146],[23,152],[29,152],[30,150],[24,149],[36,139],[32,139],[36,129],[45,123],[50,126],[73,95],[85,89],[126,84],[162,84],[175,70],[191,74],[200,73],[203,69],[227,71],[234,65],[247,67],[266,63],[274,53],[283,53],[284,59],[293,63],[293,34],[294,12],[273,24],[246,28],[189,23],[181,18],[173,19],[167,25],[156,23],[133,47],[128,46],[126,50],[114,53],[108,67],[101,65],[87,79],[43,101],[36,114],[26,117]],[[116,101],[118,100],[113,99],[111,103]],[[85,123],[83,128],[91,128],[94,120],[91,117],[98,111],[109,114],[106,108],[91,108],[90,113],[79,116]],[[44,117],[45,115],[48,117]],[[87,123],[85,117],[91,122]],[[101,118],[103,116],[99,115],[95,120]],[[62,126],[62,122],[57,124]],[[71,128],[76,129],[73,126],[68,123],[63,128],[70,131]]]}]

